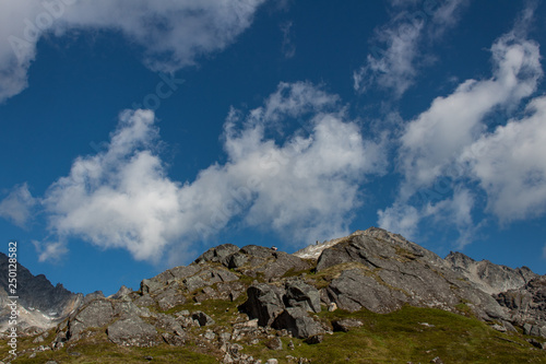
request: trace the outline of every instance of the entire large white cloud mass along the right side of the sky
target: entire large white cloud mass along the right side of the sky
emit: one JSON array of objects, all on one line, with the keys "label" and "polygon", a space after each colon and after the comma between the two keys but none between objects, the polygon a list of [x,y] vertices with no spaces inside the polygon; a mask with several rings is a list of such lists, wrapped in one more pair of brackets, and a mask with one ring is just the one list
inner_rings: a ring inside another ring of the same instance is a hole
[{"label": "entire large white cloud mass along the right side of the sky", "polygon": [[532,99],[524,117],[487,125],[494,113],[514,113],[543,77],[538,44],[524,38],[524,26],[518,21],[491,46],[490,79],[462,82],[406,124],[397,151],[404,179],[393,206],[378,211],[381,226],[413,233],[425,219],[448,222],[462,247],[484,222],[472,218],[476,193],[487,195],[486,212],[501,222],[546,211],[545,97]]}]

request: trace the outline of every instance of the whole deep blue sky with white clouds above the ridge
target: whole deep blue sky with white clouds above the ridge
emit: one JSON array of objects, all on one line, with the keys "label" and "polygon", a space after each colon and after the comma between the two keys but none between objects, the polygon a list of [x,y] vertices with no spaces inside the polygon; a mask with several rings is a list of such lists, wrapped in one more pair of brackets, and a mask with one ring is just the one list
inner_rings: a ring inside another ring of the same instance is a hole
[{"label": "whole deep blue sky with white clouds above the ridge", "polygon": [[546,4],[0,4],[0,231],[74,292],[381,226],[546,273]]}]

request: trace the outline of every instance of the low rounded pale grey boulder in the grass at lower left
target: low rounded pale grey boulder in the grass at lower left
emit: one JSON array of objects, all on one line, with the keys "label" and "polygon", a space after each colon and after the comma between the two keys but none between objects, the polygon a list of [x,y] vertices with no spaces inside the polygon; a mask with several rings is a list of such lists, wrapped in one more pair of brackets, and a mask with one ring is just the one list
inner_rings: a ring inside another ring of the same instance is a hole
[{"label": "low rounded pale grey boulder in the grass at lower left", "polygon": [[108,339],[126,347],[154,347],[157,344],[157,331],[140,317],[132,316],[117,320],[108,326]]}]

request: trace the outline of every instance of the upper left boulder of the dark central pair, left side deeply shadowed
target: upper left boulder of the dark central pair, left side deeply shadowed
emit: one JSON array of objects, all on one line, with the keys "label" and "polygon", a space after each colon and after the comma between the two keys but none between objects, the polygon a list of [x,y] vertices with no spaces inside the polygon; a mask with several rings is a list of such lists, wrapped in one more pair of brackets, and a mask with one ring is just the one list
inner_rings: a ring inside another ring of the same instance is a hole
[{"label": "upper left boulder of the dark central pair, left side deeply shadowed", "polygon": [[241,309],[250,317],[258,318],[260,326],[270,326],[284,309],[284,292],[276,286],[260,283],[247,290],[248,300]]}]

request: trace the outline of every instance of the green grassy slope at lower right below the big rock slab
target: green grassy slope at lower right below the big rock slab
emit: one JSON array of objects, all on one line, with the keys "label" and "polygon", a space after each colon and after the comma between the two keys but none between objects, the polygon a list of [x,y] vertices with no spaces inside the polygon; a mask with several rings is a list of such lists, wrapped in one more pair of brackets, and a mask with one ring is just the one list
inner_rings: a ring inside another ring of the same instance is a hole
[{"label": "green grassy slope at lower right below the big rock slab", "polygon": [[[389,315],[336,310],[321,313],[320,317],[325,321],[357,318],[364,326],[347,333],[325,334],[316,345],[283,338],[282,351],[272,352],[258,344],[247,347],[246,352],[263,362],[276,357],[280,363],[288,363],[286,355],[324,364],[429,363],[436,356],[444,363],[546,363],[546,351],[533,350],[521,336],[500,333],[485,322],[439,309],[404,307]],[[294,350],[287,347],[290,340]]]}]

